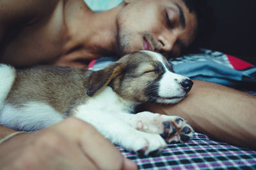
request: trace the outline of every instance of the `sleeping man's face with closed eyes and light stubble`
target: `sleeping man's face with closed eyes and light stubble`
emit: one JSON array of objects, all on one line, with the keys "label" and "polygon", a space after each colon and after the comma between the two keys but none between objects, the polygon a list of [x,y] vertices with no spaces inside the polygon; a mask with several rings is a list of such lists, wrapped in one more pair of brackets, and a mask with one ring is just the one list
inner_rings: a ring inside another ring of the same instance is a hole
[{"label": "sleeping man's face with closed eyes and light stubble", "polygon": [[120,56],[138,50],[178,56],[195,38],[196,16],[181,0],[128,0],[118,13]]}]

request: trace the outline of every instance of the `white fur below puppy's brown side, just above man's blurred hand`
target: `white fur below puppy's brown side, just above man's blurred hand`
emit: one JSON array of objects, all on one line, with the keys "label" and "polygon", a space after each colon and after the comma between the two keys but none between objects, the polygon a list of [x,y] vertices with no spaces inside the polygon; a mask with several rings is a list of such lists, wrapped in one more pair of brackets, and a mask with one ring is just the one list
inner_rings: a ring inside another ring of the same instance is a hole
[{"label": "white fur below puppy's brown side, just above man's blurred hand", "polygon": [[0,125],[22,131],[37,131],[63,120],[63,116],[45,103],[29,102],[22,108],[5,104],[0,111]]}]

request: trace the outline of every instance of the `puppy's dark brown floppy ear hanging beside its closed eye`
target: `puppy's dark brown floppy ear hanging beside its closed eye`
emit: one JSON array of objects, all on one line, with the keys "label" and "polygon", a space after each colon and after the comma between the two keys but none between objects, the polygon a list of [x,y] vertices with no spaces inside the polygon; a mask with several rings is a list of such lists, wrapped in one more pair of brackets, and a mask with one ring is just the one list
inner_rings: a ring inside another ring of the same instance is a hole
[{"label": "puppy's dark brown floppy ear hanging beside its closed eye", "polygon": [[123,69],[124,69],[123,64],[114,62],[113,64],[110,64],[105,69],[94,71],[90,75],[89,88],[86,94],[92,97],[96,93],[103,90],[113,78],[118,76],[118,74],[122,73]]}]

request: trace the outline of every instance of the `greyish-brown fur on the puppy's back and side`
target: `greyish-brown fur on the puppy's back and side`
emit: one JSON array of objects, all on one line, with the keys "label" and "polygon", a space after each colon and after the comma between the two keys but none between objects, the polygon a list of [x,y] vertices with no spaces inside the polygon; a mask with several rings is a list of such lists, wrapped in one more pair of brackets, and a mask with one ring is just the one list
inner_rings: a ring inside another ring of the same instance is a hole
[{"label": "greyish-brown fur on the puppy's back and side", "polygon": [[17,70],[7,101],[22,107],[28,102],[46,103],[67,113],[86,101],[88,76],[92,71],[68,67],[39,66]]}]

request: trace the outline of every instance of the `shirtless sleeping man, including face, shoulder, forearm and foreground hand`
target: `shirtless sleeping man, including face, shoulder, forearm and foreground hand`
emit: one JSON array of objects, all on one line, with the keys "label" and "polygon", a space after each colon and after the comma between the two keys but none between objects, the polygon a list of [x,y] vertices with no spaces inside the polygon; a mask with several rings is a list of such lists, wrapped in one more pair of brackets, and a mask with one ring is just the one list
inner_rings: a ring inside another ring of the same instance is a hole
[{"label": "shirtless sleeping man, including face, shoulder, forearm and foreground hand", "polygon": [[[15,67],[51,64],[86,68],[92,59],[122,56],[136,50],[177,56],[191,44],[196,34],[195,11],[186,2],[124,0],[112,10],[94,13],[83,0],[1,0],[0,62]],[[252,148],[256,141],[253,134],[255,108],[252,107],[255,104],[253,96],[195,81],[193,90],[182,103],[148,108],[179,115],[199,132],[227,142],[230,142],[227,137],[232,137],[234,140],[230,143]],[[243,108],[247,110],[246,117],[239,114]],[[66,129],[67,126],[70,129]],[[90,138],[76,136],[74,131]],[[12,132],[12,129],[0,127],[0,138]],[[90,125],[68,118],[42,131],[19,134],[5,141],[0,145],[0,157],[4,157],[0,165],[10,169],[136,168],[102,138]],[[98,150],[102,152],[99,154]],[[5,157],[6,154],[9,156]]]}]

